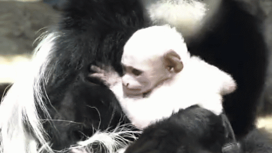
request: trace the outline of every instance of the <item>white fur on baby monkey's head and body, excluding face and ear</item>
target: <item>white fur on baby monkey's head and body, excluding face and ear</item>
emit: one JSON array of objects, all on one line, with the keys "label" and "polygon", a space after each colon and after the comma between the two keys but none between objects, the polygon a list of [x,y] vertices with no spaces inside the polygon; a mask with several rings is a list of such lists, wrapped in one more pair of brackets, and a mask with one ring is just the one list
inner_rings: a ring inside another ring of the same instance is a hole
[{"label": "white fur on baby monkey's head and body, excluding face and ear", "polygon": [[[149,55],[155,55],[158,52],[157,54],[160,56],[161,52],[168,51],[165,47],[170,47],[172,43],[177,44],[169,49],[176,51],[181,56],[182,62],[186,59],[183,62],[182,71],[171,80],[165,81],[162,85],[153,89],[149,97],[131,98],[123,96],[121,78],[117,73],[111,72],[111,75],[114,74],[112,77],[116,78],[116,82],[111,83],[110,89],[119,99],[126,115],[138,128],[142,129],[158,119],[170,117],[173,112],[177,112],[180,108],[187,108],[193,104],[199,104],[219,115],[222,111],[222,95],[231,93],[236,89],[236,83],[229,74],[204,62],[199,57],[190,57],[187,48],[180,47],[186,46],[181,35],[178,34],[180,38],[177,38],[177,32],[173,33],[173,30],[169,26],[153,26],[139,30],[133,34],[124,47],[125,59],[122,59],[122,61],[135,60],[132,62],[132,66],[137,67],[138,65],[141,69],[145,67],[144,64],[147,67],[154,65],[153,60],[149,60]],[[158,39],[160,41],[155,42]],[[162,42],[170,42],[170,46]],[[154,44],[156,46],[148,46]],[[152,47],[154,47],[153,50],[151,50]],[[129,49],[132,49],[132,51],[129,51]],[[127,56],[127,54],[129,55]],[[136,58],[133,58],[133,54]],[[105,80],[107,81],[109,78]]]}]

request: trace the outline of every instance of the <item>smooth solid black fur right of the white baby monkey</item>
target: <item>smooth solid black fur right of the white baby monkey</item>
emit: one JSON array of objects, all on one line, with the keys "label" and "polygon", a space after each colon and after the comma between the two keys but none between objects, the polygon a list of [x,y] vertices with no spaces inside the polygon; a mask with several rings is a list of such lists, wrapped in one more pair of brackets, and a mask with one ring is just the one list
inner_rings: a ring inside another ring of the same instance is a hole
[{"label": "smooth solid black fur right of the white baby monkey", "polygon": [[242,2],[222,0],[203,33],[185,40],[191,54],[230,73],[237,82],[237,90],[224,97],[223,107],[238,137],[254,129],[265,80],[267,48],[260,23],[243,10]]}]

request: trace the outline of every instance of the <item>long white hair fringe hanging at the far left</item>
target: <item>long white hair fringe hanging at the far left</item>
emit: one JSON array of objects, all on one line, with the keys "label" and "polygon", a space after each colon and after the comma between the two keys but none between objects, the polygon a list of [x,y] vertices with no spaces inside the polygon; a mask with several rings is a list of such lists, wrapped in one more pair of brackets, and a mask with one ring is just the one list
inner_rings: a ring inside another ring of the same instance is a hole
[{"label": "long white hair fringe hanging at the far left", "polygon": [[[56,33],[48,34],[37,46],[36,56],[21,70],[0,105],[0,152],[1,153],[52,153],[47,135],[42,127],[36,106],[48,114],[42,101],[43,71],[48,54],[53,48]],[[37,97],[37,98],[35,98]],[[49,114],[48,114],[49,116]],[[30,131],[32,132],[30,134]]]}]

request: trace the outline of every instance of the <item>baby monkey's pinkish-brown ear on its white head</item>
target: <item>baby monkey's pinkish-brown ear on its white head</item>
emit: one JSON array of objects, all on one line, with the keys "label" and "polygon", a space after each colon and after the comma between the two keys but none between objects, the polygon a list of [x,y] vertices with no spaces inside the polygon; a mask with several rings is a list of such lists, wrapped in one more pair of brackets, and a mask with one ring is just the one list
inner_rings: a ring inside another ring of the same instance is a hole
[{"label": "baby monkey's pinkish-brown ear on its white head", "polygon": [[183,69],[180,56],[173,50],[167,51],[164,55],[163,64],[169,72],[178,73]]}]

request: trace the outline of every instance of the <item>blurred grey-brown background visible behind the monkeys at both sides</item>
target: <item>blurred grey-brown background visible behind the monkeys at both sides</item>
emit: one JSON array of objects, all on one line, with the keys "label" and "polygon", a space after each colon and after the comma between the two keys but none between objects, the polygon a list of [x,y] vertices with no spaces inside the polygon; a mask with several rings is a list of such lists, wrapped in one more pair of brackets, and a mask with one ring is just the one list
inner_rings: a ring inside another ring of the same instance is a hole
[{"label": "blurred grey-brown background visible behind the monkeys at both sides", "polygon": [[[245,9],[263,21],[260,30],[270,49],[270,63],[258,105],[258,115],[261,118],[257,124],[272,131],[272,0],[239,1],[244,1]],[[34,43],[35,39],[58,22],[63,2],[64,0],[0,0],[0,95],[19,77],[17,72],[31,61],[37,45]]]}]

